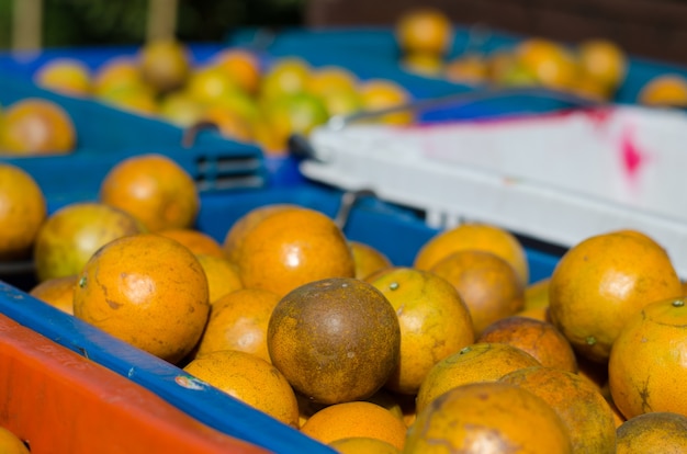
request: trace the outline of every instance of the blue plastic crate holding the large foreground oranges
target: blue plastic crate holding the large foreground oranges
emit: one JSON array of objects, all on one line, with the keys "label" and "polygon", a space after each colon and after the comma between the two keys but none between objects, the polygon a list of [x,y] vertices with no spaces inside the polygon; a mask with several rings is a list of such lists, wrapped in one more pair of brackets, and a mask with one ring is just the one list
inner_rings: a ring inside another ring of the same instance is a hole
[{"label": "blue plastic crate holding the large foreground oranges", "polygon": [[[316,185],[205,194],[198,227],[222,241],[233,223],[255,207],[294,203],[334,217],[340,209],[341,196],[338,190]],[[419,247],[437,234],[413,212],[390,206],[373,197],[360,198],[353,205],[344,231],[349,239],[379,248],[396,265],[410,265]],[[555,254],[534,249],[528,249],[527,253],[532,282],[550,275],[559,260]],[[132,348],[2,283],[0,313],[145,386],[190,416],[228,435],[275,453],[334,452],[213,387],[190,381],[179,367]]]}]

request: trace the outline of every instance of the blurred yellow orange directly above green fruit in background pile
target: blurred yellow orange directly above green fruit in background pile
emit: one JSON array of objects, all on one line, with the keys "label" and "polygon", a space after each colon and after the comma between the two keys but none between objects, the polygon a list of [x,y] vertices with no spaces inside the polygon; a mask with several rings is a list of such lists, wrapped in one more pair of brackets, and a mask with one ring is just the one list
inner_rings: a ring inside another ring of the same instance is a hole
[{"label": "blurred yellow orange directly above green fruit in background pile", "polygon": [[300,57],[282,57],[267,68],[260,81],[259,97],[272,100],[307,90],[313,68]]}]

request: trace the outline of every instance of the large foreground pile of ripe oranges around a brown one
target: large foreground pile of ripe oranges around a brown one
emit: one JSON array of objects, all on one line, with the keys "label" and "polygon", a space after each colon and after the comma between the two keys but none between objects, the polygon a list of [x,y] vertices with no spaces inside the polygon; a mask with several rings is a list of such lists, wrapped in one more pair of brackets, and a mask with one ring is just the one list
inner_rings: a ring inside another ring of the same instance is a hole
[{"label": "large foreground pile of ripe oranges around a brown one", "polygon": [[158,155],[50,215],[31,177],[0,172],[22,206],[0,213],[0,257],[43,263],[34,296],[341,453],[687,446],[687,302],[643,232],[587,238],[531,283],[494,225],[437,232],[407,266],[295,204],[210,237]]}]

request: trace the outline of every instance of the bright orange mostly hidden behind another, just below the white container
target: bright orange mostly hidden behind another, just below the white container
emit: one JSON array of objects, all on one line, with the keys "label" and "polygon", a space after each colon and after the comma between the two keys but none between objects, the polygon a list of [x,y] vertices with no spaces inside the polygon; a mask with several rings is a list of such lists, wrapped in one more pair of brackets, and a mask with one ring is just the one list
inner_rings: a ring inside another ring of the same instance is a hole
[{"label": "bright orange mostly hidden behind another, just below the white container", "polygon": [[429,270],[439,260],[463,249],[493,252],[510,263],[522,285],[529,282],[529,265],[523,246],[508,230],[489,224],[465,223],[438,232],[423,245],[413,265]]}]

